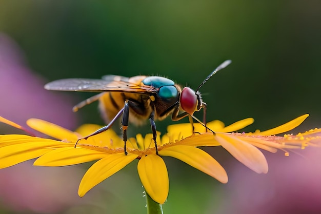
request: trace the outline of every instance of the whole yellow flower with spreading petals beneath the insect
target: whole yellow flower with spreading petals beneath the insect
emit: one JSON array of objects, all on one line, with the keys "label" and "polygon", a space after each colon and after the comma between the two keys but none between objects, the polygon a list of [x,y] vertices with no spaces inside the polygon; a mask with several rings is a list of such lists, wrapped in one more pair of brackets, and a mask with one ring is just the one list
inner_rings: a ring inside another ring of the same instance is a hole
[{"label": "whole yellow flower with spreading petals beneath the insect", "polygon": [[[137,134],[136,138],[130,138],[127,144],[128,155],[125,155],[123,140],[112,130],[94,135],[87,140],[80,140],[74,148],[79,138],[100,127],[87,124],[80,127],[77,132],[73,132],[46,121],[30,119],[27,121],[28,126],[58,140],[22,134],[0,135],[0,168],[34,158],[37,158],[34,162],[37,166],[68,166],[98,160],[87,170],[79,185],[78,194],[83,197],[92,187],[138,159],[137,170],[145,190],[155,202],[163,204],[168,196],[169,180],[162,156],[179,159],[226,183],[228,177],[225,169],[208,153],[197,148],[223,146],[238,161],[252,170],[266,173],[267,161],[257,147],[275,152],[277,149],[304,148],[309,144],[318,144],[319,129],[285,137],[270,135],[293,129],[307,116],[307,114],[300,116],[268,131],[254,133],[232,132],[252,124],[253,119],[238,121],[226,127],[220,121],[208,123],[207,126],[215,133],[207,132],[200,124],[194,124],[196,132],[194,134],[191,124],[172,125],[168,127],[168,133],[163,135],[162,139],[157,138],[159,155],[156,155],[152,134],[147,134],[145,138],[141,134]],[[0,122],[23,129],[1,117]]]}]

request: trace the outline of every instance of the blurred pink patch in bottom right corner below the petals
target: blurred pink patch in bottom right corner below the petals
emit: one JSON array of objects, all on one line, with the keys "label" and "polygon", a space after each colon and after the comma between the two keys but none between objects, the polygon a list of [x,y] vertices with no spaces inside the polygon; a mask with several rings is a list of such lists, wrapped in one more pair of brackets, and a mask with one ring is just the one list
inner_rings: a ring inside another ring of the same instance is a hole
[{"label": "blurred pink patch in bottom right corner below the petals", "polygon": [[306,148],[265,152],[269,172],[256,174],[233,162],[229,182],[222,187],[222,206],[212,213],[317,214],[321,213],[321,150]]}]

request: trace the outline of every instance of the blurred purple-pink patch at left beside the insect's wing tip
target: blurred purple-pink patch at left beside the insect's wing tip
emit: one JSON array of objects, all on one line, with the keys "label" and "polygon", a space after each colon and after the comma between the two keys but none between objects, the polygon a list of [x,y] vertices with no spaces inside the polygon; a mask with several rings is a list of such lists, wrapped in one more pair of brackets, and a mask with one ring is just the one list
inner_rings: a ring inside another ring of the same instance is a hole
[{"label": "blurred purple-pink patch at left beside the insect's wing tip", "polygon": [[21,125],[29,118],[39,118],[75,128],[72,107],[76,101],[70,95],[45,90],[47,82],[28,68],[16,43],[0,33],[0,115]]}]

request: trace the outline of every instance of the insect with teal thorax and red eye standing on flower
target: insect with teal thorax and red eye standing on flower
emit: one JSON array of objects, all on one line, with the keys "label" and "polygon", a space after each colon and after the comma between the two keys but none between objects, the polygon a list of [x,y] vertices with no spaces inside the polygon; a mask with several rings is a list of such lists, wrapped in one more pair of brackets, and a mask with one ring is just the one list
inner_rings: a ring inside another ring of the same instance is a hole
[{"label": "insect with teal thorax and red eye standing on flower", "polygon": [[193,116],[193,113],[203,108],[203,123],[200,123],[206,127],[206,103],[203,102],[199,89],[211,76],[230,63],[231,61],[227,60],[220,64],[206,77],[196,91],[189,87],[182,89],[174,81],[161,76],[133,76],[128,78],[117,75],[106,75],[101,80],[56,80],[46,84],[45,89],[99,92],[99,94],[92,96],[73,108],[74,111],[77,111],[79,108],[98,100],[99,109],[103,114],[106,124],[108,124],[83,139],[88,139],[95,134],[106,131],[122,116],[124,151],[126,155],[128,122],[139,125],[149,120],[156,154],[158,154],[155,120],[163,120],[171,115],[173,121],[178,121],[189,115],[190,121],[192,121],[191,118],[194,118],[200,122]]}]

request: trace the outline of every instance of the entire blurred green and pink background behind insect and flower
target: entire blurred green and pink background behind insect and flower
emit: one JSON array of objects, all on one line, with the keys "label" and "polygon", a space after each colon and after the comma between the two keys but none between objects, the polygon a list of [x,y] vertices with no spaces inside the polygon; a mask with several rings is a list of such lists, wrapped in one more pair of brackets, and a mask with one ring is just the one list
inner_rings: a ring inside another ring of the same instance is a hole
[{"label": "entire blurred green and pink background behind insect and flower", "polygon": [[[209,121],[253,117],[254,125],[244,131],[254,131],[310,113],[293,132],[321,127],[320,22],[319,1],[0,0],[0,115],[19,124],[35,117],[70,129],[103,124],[97,104],[71,111],[93,94],[49,92],[43,85],[67,77],[142,74],[196,89],[231,59],[202,87]],[[157,122],[157,129],[164,133],[172,123]],[[0,133],[17,132],[0,126]],[[264,175],[223,149],[207,151],[226,168],[229,183],[168,158],[165,213],[321,213],[319,149],[290,157],[266,153],[270,171]],[[136,163],[82,199],[77,186],[90,164],[31,165],[0,170],[0,213],[146,212]]]}]

